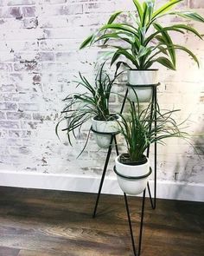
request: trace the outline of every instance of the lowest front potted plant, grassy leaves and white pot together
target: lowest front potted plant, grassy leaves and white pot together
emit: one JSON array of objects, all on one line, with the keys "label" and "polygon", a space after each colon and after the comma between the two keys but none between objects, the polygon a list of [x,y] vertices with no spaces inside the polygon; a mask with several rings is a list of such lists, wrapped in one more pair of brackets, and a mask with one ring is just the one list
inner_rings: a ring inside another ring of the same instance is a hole
[{"label": "lowest front potted plant, grassy leaves and white pot together", "polygon": [[[179,110],[166,110],[162,113],[158,106],[150,104],[147,108],[141,109],[139,102],[129,102],[130,115],[120,115],[118,122],[127,152],[118,155],[114,170],[124,193],[136,195],[143,192],[151,174],[150,161],[145,156],[145,150],[152,143],[158,142],[163,145],[163,140],[167,138],[185,138],[187,134],[180,130],[182,124],[176,124],[173,119],[173,114]],[[153,115],[150,114],[150,108],[153,108]],[[153,121],[156,121],[156,127],[152,128]]]}]

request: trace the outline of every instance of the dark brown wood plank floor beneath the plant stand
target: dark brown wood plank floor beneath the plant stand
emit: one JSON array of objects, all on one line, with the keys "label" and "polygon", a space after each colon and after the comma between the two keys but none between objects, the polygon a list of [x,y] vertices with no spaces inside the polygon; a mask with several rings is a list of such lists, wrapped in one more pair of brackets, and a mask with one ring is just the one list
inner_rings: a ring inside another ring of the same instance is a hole
[{"label": "dark brown wood plank floor beneath the plant stand", "polygon": [[[0,256],[132,255],[121,196],[0,187]],[[141,200],[130,199],[138,232]],[[142,256],[204,255],[204,204],[146,200]]]}]

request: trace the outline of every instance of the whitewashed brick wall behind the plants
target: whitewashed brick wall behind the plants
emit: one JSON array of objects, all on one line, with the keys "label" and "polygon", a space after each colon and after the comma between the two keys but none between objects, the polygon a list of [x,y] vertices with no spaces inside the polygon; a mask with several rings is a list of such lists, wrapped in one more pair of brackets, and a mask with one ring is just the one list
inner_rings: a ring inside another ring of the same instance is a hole
[{"label": "whitewashed brick wall behind the plants", "polygon": [[[187,0],[182,6],[204,15],[203,0]],[[80,70],[92,77],[92,62],[99,56],[96,48],[79,51],[80,43],[105,23],[112,11],[132,9],[131,0],[0,1],[1,169],[101,174],[106,151],[97,148],[93,136],[76,160],[83,140],[71,148],[65,135],[61,135],[65,144],[57,139],[54,127],[63,106],[61,100],[75,90],[74,75]],[[191,24],[204,34],[203,24]],[[175,40],[186,43],[199,56],[201,69],[179,54],[176,72],[161,68],[158,98],[163,108],[182,108],[178,120],[190,116],[187,129],[200,155],[184,141],[169,140],[166,147],[158,148],[158,178],[172,181],[179,173],[180,181],[204,183],[204,139],[194,137],[204,132],[204,43],[188,34]],[[124,83],[125,77],[121,81]],[[124,85],[117,90],[124,91]],[[121,104],[116,101],[113,106]],[[110,175],[113,158],[114,154]]]}]

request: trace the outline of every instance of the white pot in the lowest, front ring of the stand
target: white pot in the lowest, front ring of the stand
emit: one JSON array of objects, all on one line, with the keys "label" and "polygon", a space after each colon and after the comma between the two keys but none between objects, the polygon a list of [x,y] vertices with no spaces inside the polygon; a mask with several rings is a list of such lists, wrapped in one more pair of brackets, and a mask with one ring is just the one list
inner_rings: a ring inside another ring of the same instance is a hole
[{"label": "white pot in the lowest, front ring of the stand", "polygon": [[[147,162],[141,165],[132,166],[119,162],[119,157],[120,155],[115,159],[119,187],[125,194],[141,194],[147,186],[148,176],[151,174],[149,159],[147,158]],[[121,177],[119,174],[127,178]],[[143,175],[147,175],[147,177],[138,179]],[[132,177],[132,179],[128,177]]]}]

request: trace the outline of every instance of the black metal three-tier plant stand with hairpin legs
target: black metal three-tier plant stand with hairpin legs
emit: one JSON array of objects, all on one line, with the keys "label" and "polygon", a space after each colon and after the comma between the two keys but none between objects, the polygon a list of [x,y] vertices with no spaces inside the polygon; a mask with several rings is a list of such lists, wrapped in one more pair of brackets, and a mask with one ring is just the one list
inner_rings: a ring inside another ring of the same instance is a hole
[{"label": "black metal three-tier plant stand with hairpin legs", "polygon": [[[157,105],[156,88],[157,88],[158,85],[159,85],[159,83],[157,83],[157,84],[148,84],[148,85],[137,85],[137,88],[140,88],[140,87],[141,88],[143,88],[143,87],[149,87],[149,88],[151,87],[152,88],[152,100],[151,100],[150,117],[151,117],[151,120],[153,119],[154,121],[153,121],[153,123],[150,124],[150,129],[152,128],[152,125],[154,125],[154,127],[156,128],[156,111],[154,111],[154,109],[156,109],[156,105]],[[127,85],[127,86],[129,86],[129,85]],[[132,87],[132,85],[131,85],[131,87]],[[128,89],[126,89],[126,92],[125,92],[125,95],[124,95],[124,102],[122,104],[120,114],[123,113],[124,104],[126,102],[127,95],[128,95]],[[92,131],[96,132],[93,129],[92,129]],[[100,198],[101,190],[102,190],[103,183],[104,183],[104,180],[105,180],[106,170],[107,170],[107,167],[108,167],[110,156],[112,154],[113,142],[114,142],[114,145],[115,145],[115,148],[116,148],[116,154],[117,155],[119,154],[118,153],[117,140],[116,140],[116,135],[118,133],[114,133],[114,134],[100,133],[100,132],[96,132],[96,133],[103,134],[103,135],[111,135],[111,142],[110,142],[110,146],[108,148],[108,152],[107,152],[107,155],[106,155],[105,165],[104,165],[103,173],[102,173],[100,184],[99,184],[99,191],[98,191],[98,194],[97,194],[95,207],[94,207],[94,210],[93,210],[93,213],[92,213],[92,218],[95,218],[96,213],[97,213],[97,208],[98,208],[98,205],[99,205],[99,198]],[[154,194],[153,194],[153,196],[152,196],[151,191],[150,191],[150,183],[149,182],[147,183],[148,193],[150,195],[150,205],[151,205],[152,209],[156,209],[156,154],[157,154],[157,150],[156,150],[156,142],[155,142],[154,143]],[[147,157],[150,156],[150,147],[147,149],[146,156]],[[151,171],[152,170],[150,168],[150,172]],[[125,207],[126,207],[126,212],[127,212],[127,217],[128,217],[128,223],[129,223],[129,227],[130,227],[131,243],[132,243],[132,249],[133,249],[134,256],[139,256],[140,252],[141,252],[142,236],[143,236],[143,215],[144,215],[145,195],[146,195],[146,189],[144,189],[144,191],[143,191],[142,213],[141,213],[141,220],[140,220],[140,231],[139,231],[139,238],[138,238],[138,247],[136,249],[134,235],[133,235],[133,232],[132,232],[131,214],[130,214],[130,210],[129,210],[127,195],[124,194],[124,202],[125,202]]]}]

